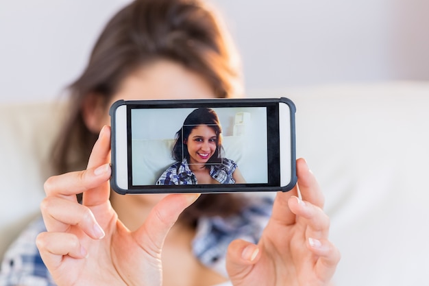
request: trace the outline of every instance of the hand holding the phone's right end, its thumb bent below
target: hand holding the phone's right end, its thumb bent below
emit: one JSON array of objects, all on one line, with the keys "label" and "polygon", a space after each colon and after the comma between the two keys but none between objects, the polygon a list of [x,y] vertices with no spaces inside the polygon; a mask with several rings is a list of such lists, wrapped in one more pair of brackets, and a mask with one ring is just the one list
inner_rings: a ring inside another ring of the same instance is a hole
[{"label": "hand holding the phone's right end, its thumb bent below", "polygon": [[234,286],[330,285],[341,255],[328,240],[323,195],[304,159],[297,160],[297,177],[294,189],[275,198],[258,245],[230,244],[226,266]]}]

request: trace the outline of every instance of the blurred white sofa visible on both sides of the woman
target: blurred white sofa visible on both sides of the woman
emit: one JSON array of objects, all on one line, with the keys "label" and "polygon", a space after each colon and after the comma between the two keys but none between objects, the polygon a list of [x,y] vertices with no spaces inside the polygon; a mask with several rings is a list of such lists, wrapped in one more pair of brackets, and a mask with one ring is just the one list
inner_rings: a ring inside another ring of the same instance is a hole
[{"label": "blurred white sofa visible on both sides of the woman", "polygon": [[[427,285],[429,82],[285,88],[297,106],[297,156],[326,195],[330,238],[342,253],[336,285]],[[51,103],[0,105],[0,257],[38,213]]]}]

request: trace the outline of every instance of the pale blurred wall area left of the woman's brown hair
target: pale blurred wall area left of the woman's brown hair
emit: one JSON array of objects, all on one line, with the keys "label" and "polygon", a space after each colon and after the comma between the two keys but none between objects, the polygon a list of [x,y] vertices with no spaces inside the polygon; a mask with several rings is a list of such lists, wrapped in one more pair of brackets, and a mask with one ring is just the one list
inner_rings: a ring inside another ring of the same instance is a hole
[{"label": "pale blurred wall area left of the woman's brown hair", "polygon": [[0,100],[51,99],[125,0],[0,0]]}]

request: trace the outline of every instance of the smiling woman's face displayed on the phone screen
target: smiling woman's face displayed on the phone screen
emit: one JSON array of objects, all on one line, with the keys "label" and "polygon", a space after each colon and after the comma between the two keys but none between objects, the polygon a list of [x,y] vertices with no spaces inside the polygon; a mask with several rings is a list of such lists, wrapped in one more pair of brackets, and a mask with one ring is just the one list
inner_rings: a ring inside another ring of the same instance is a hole
[{"label": "smiling woman's face displayed on the phone screen", "polygon": [[199,125],[193,128],[184,144],[188,148],[188,163],[204,165],[215,154],[217,135],[212,127]]}]

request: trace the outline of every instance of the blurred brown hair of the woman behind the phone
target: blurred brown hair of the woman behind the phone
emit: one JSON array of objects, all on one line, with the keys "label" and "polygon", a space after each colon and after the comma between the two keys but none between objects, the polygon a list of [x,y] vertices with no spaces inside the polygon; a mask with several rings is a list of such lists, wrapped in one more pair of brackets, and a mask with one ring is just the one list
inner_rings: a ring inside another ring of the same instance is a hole
[{"label": "blurred brown hair of the woman behind the phone", "polygon": [[[195,71],[217,97],[242,93],[236,51],[214,11],[197,0],[136,0],[108,22],[86,69],[69,86],[69,117],[53,148],[56,174],[85,169],[97,140],[82,117],[85,100],[97,95],[108,104],[123,78],[158,59],[172,60]],[[240,207],[235,197],[202,195],[182,217],[195,223],[203,213],[228,215]]]}]

